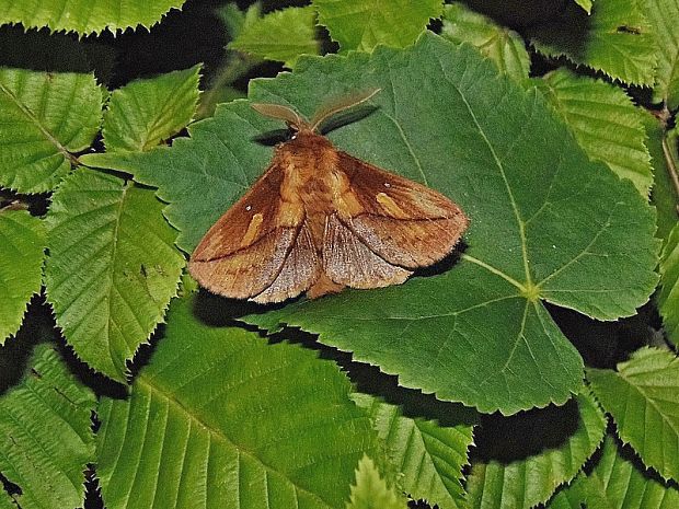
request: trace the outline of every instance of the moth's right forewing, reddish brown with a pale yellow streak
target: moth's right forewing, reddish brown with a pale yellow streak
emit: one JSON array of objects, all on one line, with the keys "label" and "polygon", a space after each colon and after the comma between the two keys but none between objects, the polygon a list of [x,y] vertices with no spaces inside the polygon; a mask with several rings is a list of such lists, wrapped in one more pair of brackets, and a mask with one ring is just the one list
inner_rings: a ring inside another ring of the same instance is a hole
[{"label": "moth's right forewing, reddish brown with a pale yellow streak", "polygon": [[[390,264],[414,269],[448,255],[469,219],[446,196],[338,152],[349,187],[342,222]],[[348,204],[348,205],[346,205]]]}]

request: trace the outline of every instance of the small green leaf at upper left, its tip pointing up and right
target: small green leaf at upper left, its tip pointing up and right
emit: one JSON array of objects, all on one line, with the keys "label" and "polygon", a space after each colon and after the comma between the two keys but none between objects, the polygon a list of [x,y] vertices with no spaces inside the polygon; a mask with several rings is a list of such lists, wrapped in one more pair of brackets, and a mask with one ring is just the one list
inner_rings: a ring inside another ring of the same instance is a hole
[{"label": "small green leaf at upper left, its tip pointing up and right", "polygon": [[199,71],[194,66],[114,91],[104,113],[106,150],[149,150],[186,127],[198,104]]}]

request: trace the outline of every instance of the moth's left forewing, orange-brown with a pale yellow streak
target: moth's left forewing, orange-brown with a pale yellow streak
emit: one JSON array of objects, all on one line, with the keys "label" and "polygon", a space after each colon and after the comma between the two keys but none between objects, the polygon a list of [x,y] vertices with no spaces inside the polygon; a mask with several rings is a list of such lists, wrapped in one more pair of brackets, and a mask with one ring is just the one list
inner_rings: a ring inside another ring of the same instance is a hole
[{"label": "moth's left forewing, orange-brown with a pale yellow streak", "polygon": [[274,161],[205,234],[188,263],[203,287],[246,299],[276,280],[303,223],[303,210],[284,213],[289,207],[280,199],[284,176]]}]

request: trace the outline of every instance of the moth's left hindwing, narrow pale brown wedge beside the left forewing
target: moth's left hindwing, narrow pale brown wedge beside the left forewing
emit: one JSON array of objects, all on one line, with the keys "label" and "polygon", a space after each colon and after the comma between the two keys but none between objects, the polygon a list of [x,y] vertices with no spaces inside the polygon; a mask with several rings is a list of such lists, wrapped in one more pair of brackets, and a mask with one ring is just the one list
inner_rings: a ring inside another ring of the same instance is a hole
[{"label": "moth's left hindwing, narrow pale brown wedge beside the left forewing", "polygon": [[280,302],[299,296],[318,280],[320,271],[321,263],[304,221],[276,279],[251,300],[258,303]]}]

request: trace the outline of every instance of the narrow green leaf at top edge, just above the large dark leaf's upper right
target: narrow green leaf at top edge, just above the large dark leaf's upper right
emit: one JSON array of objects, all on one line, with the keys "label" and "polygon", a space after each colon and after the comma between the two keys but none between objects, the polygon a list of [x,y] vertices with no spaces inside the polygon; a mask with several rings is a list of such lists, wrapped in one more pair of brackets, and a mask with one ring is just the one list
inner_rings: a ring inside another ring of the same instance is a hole
[{"label": "narrow green leaf at top edge, just above the large dark leaf's upper right", "polygon": [[441,35],[453,43],[472,44],[515,80],[528,78],[530,58],[521,36],[463,3],[445,7]]}]

